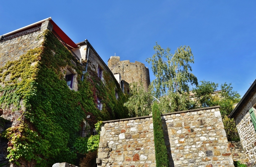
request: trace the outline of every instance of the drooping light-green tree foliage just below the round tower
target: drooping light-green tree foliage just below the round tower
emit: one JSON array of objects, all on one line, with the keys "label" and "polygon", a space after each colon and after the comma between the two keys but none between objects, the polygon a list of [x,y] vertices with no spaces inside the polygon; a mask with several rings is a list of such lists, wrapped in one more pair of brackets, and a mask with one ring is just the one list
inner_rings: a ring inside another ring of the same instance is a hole
[{"label": "drooping light-green tree foliage just below the round tower", "polygon": [[151,92],[146,92],[142,83],[138,85],[137,82],[133,82],[130,84],[130,98],[124,106],[128,108],[131,117],[147,116],[151,113],[152,101]]}]

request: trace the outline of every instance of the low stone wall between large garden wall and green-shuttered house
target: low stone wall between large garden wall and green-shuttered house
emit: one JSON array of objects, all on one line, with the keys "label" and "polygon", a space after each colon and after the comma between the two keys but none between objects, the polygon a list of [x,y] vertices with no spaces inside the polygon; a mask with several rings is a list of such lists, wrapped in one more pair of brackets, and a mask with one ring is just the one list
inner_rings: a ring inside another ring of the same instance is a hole
[{"label": "low stone wall between large garden wall and green-shuttered house", "polygon": [[244,154],[244,150],[240,141],[231,141],[228,144],[234,161],[240,161],[242,163],[247,162],[247,158]]}]

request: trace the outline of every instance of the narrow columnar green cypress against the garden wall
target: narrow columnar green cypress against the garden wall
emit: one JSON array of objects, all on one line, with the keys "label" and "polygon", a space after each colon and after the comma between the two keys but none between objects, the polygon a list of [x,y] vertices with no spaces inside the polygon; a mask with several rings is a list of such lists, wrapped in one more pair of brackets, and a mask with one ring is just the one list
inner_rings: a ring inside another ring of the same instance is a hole
[{"label": "narrow columnar green cypress against the garden wall", "polygon": [[156,102],[152,105],[152,117],[154,125],[156,167],[169,167],[167,148],[164,143],[161,114]]}]

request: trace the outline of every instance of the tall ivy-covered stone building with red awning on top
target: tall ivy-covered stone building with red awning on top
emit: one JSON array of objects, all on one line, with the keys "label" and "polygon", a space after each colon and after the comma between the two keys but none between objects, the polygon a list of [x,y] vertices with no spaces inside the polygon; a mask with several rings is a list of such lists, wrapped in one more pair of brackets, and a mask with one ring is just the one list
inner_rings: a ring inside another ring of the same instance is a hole
[{"label": "tall ivy-covered stone building with red awning on top", "polygon": [[[89,41],[74,43],[51,18],[0,36],[0,133],[29,138],[25,128],[36,134],[33,142],[7,137],[33,148],[27,150],[30,160],[26,154],[17,160],[22,166],[53,164],[55,156],[65,161],[72,154],[70,141],[85,136],[83,130],[95,121],[128,117],[126,99]],[[38,140],[46,147],[35,149]],[[0,135],[0,164],[5,166],[10,165],[10,143]],[[45,150],[36,152],[40,149]],[[79,156],[77,163],[96,164],[96,156]]]}]

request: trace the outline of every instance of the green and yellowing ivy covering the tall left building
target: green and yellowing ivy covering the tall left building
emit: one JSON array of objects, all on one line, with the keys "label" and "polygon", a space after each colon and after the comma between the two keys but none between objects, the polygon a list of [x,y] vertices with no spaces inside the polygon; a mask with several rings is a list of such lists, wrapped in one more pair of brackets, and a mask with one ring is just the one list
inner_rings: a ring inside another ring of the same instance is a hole
[{"label": "green and yellowing ivy covering the tall left building", "polygon": [[[23,166],[74,164],[74,143],[79,139],[81,122],[86,120],[94,125],[98,120],[127,118],[128,111],[123,107],[127,97],[107,72],[103,75],[105,83],[96,71],[90,77],[85,74],[81,81],[85,64],[77,61],[50,30],[45,30],[36,41],[42,41],[42,45],[0,68],[0,82],[4,83],[0,87],[3,118],[13,111],[20,113],[10,120],[16,123],[2,134],[9,141],[7,158]],[[63,69],[67,66],[77,72],[78,91],[66,85]],[[119,93],[118,100],[115,91]],[[103,99],[102,111],[96,107],[97,96]],[[87,119],[88,114],[91,117]]]}]

